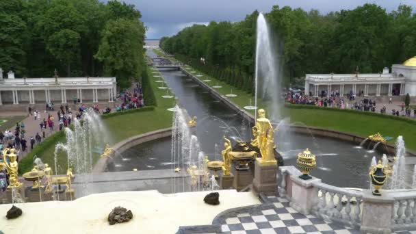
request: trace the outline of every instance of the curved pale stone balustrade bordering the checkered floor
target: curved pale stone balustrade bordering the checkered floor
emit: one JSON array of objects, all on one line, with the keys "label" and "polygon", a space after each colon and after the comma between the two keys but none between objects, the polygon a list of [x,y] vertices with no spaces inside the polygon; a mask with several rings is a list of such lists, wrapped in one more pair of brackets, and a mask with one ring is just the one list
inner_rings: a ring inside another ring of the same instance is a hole
[{"label": "curved pale stone balustrade bordering the checkered floor", "polygon": [[363,233],[416,230],[416,190],[371,190],[336,187],[313,177],[304,181],[294,166],[278,168],[278,195],[291,207],[328,221],[360,227]]}]

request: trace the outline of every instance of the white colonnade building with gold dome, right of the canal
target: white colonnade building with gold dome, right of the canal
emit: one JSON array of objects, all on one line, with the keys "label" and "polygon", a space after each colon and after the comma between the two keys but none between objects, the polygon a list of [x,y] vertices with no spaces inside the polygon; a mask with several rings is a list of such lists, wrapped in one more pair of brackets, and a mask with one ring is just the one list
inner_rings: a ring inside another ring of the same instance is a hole
[{"label": "white colonnade building with gold dome, right of the canal", "polygon": [[403,64],[393,64],[391,73],[384,68],[382,73],[361,74],[307,74],[305,94],[311,96],[329,95],[339,92],[339,96],[416,96],[416,57]]}]

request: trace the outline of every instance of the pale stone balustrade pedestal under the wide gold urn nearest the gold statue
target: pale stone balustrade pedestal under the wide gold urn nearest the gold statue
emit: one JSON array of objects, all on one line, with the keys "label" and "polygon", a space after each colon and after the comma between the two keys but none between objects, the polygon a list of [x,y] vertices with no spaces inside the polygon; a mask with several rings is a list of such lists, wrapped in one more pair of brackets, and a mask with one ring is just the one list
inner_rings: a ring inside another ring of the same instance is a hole
[{"label": "pale stone balustrade pedestal under the wide gold urn nearest the gold statue", "polygon": [[313,183],[320,183],[321,180],[315,177],[303,180],[298,176],[291,176],[291,207],[307,215],[311,213],[312,205],[315,202],[317,192],[313,187]]}]

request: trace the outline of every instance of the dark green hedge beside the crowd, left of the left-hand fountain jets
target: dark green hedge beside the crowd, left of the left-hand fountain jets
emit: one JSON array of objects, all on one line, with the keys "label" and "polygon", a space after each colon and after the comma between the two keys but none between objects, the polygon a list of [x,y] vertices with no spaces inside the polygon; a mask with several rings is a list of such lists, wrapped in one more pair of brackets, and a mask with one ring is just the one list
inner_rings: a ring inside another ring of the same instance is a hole
[{"label": "dark green hedge beside the crowd, left of the left-hand fountain jets", "polygon": [[57,142],[63,141],[65,139],[65,131],[57,131],[53,133],[48,138],[44,139],[40,144],[36,145],[34,149],[28,153],[23,159],[18,162],[18,171],[19,173],[28,172],[34,166],[34,157],[37,155],[41,157],[41,153],[45,151],[46,148],[49,148],[52,145],[57,144]]}]

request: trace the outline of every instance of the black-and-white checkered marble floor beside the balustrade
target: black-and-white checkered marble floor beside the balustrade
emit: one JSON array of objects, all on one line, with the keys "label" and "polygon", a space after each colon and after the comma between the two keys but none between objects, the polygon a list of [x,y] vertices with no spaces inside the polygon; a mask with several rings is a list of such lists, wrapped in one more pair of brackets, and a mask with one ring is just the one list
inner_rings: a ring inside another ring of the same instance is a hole
[{"label": "black-and-white checkered marble floor beside the balustrade", "polygon": [[291,208],[286,199],[268,196],[268,200],[272,206],[260,206],[250,213],[233,213],[226,218],[221,226],[222,233],[360,233],[359,229],[341,223],[304,216]]}]

